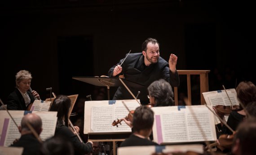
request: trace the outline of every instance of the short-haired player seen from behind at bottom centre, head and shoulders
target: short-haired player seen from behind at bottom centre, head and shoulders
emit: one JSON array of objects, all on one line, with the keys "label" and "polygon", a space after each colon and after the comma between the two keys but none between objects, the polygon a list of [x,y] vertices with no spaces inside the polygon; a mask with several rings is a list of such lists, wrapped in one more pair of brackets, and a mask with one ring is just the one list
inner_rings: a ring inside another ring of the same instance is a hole
[{"label": "short-haired player seen from behind at bottom centre, head and shoulders", "polygon": [[134,132],[121,143],[120,147],[158,145],[156,142],[149,140],[153,123],[154,112],[151,108],[146,106],[137,107],[132,120]]}]

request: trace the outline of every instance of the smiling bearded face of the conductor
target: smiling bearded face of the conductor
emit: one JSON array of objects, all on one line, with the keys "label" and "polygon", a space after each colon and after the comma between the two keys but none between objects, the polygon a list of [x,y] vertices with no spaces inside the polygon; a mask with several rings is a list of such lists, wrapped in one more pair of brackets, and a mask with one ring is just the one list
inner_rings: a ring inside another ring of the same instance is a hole
[{"label": "smiling bearded face of the conductor", "polygon": [[146,52],[142,52],[145,58],[145,65],[155,64],[159,59],[159,45],[148,43]]}]

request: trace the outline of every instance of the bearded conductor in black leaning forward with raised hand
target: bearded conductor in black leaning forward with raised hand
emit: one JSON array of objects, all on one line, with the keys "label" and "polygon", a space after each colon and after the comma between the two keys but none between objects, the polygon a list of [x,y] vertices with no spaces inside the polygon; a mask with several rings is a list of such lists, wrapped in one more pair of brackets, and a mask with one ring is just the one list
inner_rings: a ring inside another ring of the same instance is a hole
[{"label": "bearded conductor in black leaning forward with raised hand", "polygon": [[[171,86],[179,86],[180,84],[176,70],[178,57],[171,54],[168,62],[160,57],[159,43],[156,39],[146,39],[142,43],[142,53],[127,54],[124,59],[109,69],[108,76],[116,77],[123,74],[125,79],[144,85],[143,89],[131,88],[132,94],[137,94],[138,90],[141,92],[138,98],[141,104],[149,103],[147,87],[155,80],[163,78]],[[113,97],[113,100],[118,99],[132,99],[132,96],[125,87],[120,86]]]}]

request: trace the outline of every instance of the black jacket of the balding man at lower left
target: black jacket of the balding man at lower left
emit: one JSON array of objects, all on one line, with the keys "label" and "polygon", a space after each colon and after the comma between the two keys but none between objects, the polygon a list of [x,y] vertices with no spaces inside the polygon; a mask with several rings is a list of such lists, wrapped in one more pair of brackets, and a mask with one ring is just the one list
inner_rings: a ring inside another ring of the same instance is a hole
[{"label": "black jacket of the balding man at lower left", "polygon": [[23,147],[22,155],[39,155],[41,144],[33,134],[24,134],[11,146]]}]

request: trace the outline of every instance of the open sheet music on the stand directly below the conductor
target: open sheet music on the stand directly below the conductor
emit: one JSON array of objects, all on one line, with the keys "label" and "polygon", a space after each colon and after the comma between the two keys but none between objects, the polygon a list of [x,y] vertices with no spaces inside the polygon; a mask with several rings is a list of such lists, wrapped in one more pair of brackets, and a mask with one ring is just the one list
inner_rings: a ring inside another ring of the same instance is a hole
[{"label": "open sheet music on the stand directly below the conductor", "polygon": [[117,119],[128,116],[129,112],[122,101],[130,110],[140,106],[135,99],[86,101],[84,106],[84,134],[131,132],[131,128],[124,121],[118,127],[112,125],[114,120],[117,121]]}]

